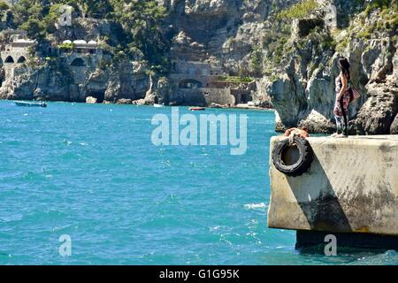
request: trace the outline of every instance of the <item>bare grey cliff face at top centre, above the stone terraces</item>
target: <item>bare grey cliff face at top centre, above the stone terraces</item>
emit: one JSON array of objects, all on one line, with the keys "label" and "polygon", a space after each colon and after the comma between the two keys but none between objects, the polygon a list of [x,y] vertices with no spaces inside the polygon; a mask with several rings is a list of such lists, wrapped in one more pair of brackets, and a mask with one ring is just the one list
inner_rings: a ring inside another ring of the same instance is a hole
[{"label": "bare grey cliff face at top centre, above the stone terraces", "polygon": [[264,20],[298,0],[163,1],[170,16],[171,57],[223,65],[229,73],[248,67],[254,47],[266,34]]}]

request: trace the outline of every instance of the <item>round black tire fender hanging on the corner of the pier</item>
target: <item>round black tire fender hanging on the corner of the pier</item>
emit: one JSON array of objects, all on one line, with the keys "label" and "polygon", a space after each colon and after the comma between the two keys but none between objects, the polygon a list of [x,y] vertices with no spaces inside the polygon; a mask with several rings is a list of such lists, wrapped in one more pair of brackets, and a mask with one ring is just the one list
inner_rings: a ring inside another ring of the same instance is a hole
[{"label": "round black tire fender hanging on the corner of the pier", "polygon": [[[287,165],[282,160],[284,152],[290,148],[296,147],[299,150],[299,158],[295,164]],[[275,168],[287,176],[297,177],[304,172],[308,172],[313,160],[313,152],[310,142],[300,137],[295,137],[293,144],[289,143],[289,139],[284,139],[272,151],[272,163]]]}]

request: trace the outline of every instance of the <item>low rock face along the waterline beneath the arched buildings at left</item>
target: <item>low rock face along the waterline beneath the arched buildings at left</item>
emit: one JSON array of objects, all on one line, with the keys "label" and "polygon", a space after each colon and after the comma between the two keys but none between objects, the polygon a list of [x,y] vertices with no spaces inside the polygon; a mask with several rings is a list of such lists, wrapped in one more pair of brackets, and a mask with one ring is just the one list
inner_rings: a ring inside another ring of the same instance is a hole
[{"label": "low rock face along the waterline beneath the arched buildings at left", "polygon": [[88,96],[98,103],[117,103],[120,99],[143,98],[148,76],[135,73],[133,65],[100,69],[97,65],[41,66],[4,65],[5,80],[0,99],[37,99],[46,101],[86,102]]}]

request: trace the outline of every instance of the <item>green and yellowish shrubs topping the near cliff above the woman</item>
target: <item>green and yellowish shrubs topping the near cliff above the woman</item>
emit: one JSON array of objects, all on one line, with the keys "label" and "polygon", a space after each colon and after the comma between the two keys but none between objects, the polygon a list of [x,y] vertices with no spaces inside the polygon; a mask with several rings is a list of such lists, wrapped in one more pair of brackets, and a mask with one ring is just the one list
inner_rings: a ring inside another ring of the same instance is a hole
[{"label": "green and yellowish shrubs topping the near cliff above the woman", "polygon": [[[338,27],[334,29],[325,28],[322,19],[325,13],[322,9],[317,1],[304,0],[272,14],[270,19],[266,20],[265,25],[269,33],[264,36],[263,42],[262,65],[265,75],[276,78],[275,73],[279,73],[283,68],[282,61],[293,57],[294,53],[298,52],[300,55],[306,47],[315,50],[315,53],[321,56],[333,55],[335,51],[344,50],[352,38],[367,40],[380,38],[384,34],[396,40],[396,0],[356,0],[348,7],[341,6],[337,13]],[[372,15],[378,19],[376,23],[370,20]],[[308,21],[299,27],[302,28],[298,31],[299,34],[292,34],[293,19]],[[341,36],[345,33],[345,36]]]}]

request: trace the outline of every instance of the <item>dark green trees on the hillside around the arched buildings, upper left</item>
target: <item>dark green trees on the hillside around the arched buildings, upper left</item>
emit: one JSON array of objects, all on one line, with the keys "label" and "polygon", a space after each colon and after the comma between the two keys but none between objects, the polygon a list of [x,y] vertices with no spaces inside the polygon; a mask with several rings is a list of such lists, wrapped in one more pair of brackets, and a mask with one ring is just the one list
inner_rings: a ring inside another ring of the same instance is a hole
[{"label": "dark green trees on the hillside around the arched buildings, upper left", "polygon": [[[161,23],[166,16],[165,7],[156,1],[126,0],[20,0],[8,6],[0,3],[0,9],[7,11],[5,28],[23,29],[27,36],[39,43],[60,44],[60,17],[65,12],[63,6],[72,7],[72,26],[79,29],[78,19],[98,19],[111,26],[112,34],[97,34],[103,49],[117,61],[130,58],[149,61],[149,65],[161,72],[167,67],[165,52],[169,44],[161,33]],[[80,39],[80,38],[71,38]],[[60,46],[69,49],[71,46]],[[39,44],[40,49],[40,44]]]}]

